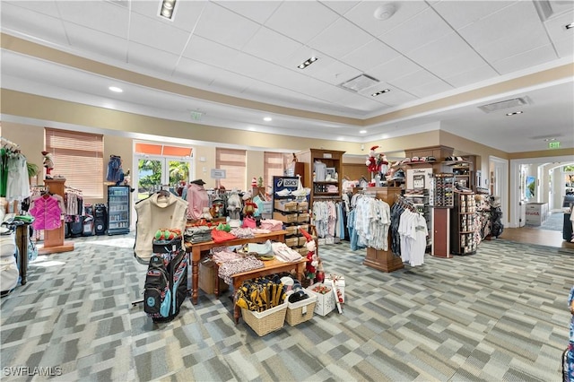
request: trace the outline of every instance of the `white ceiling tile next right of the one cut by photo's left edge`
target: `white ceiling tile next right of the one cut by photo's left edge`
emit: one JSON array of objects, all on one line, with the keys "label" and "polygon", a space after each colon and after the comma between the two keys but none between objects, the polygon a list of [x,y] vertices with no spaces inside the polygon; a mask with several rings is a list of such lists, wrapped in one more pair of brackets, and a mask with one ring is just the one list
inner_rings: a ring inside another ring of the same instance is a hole
[{"label": "white ceiling tile next right of the one cut by photo's left edge", "polygon": [[126,63],[126,39],[121,39],[99,30],[84,28],[72,22],[64,22],[64,26],[70,38],[70,45],[73,48]]}]

